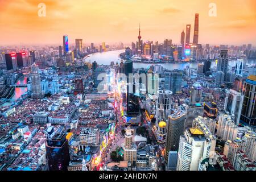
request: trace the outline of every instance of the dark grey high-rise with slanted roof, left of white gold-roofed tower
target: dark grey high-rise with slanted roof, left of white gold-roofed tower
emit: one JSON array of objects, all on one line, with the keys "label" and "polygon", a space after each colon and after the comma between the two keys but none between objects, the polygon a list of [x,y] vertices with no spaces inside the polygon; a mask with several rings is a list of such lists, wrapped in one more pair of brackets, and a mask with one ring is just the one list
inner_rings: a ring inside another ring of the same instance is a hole
[{"label": "dark grey high-rise with slanted roof, left of white gold-roofed tower", "polygon": [[168,163],[169,151],[179,149],[180,135],[184,133],[185,108],[180,106],[168,117],[166,150],[164,151],[165,162]]}]

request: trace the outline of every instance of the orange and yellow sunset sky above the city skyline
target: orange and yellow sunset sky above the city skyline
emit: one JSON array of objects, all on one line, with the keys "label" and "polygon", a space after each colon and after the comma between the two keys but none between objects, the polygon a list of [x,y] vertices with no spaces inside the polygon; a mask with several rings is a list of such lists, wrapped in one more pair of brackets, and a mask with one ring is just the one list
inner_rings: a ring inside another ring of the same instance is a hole
[{"label": "orange and yellow sunset sky above the city skyline", "polygon": [[[46,4],[46,17],[38,4]],[[210,17],[216,3],[217,17]],[[0,45],[62,44],[76,38],[90,42],[130,44],[137,40],[180,42],[180,33],[199,13],[199,43],[256,44],[255,0],[0,0]]]}]

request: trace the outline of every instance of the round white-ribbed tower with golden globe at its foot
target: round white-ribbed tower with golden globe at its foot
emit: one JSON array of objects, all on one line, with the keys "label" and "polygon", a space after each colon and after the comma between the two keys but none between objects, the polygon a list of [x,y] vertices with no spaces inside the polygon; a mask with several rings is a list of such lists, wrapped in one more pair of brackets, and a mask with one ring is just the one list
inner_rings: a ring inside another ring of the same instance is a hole
[{"label": "round white-ribbed tower with golden globe at its foot", "polygon": [[158,90],[158,102],[156,104],[156,127],[158,129],[158,142],[166,142],[167,120],[171,114],[170,90]]}]

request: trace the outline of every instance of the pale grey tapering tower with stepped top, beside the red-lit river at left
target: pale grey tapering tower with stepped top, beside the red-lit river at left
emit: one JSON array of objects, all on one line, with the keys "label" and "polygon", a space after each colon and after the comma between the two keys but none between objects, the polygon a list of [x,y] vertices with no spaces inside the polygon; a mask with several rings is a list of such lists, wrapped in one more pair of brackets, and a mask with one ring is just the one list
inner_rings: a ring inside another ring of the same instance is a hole
[{"label": "pale grey tapering tower with stepped top, beside the red-lit river at left", "polygon": [[31,65],[31,90],[32,98],[42,98],[44,96],[44,92],[42,91],[41,87],[41,79],[40,79],[40,74],[39,74],[39,68],[37,64],[32,64]]}]

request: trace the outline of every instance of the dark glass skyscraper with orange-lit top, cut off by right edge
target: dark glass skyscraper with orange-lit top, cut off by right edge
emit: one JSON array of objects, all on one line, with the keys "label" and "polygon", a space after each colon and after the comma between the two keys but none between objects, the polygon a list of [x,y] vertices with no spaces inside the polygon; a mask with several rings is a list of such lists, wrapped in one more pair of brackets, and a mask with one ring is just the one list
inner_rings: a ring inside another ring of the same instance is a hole
[{"label": "dark glass skyscraper with orange-lit top, cut off by right edge", "polygon": [[243,83],[242,94],[243,106],[241,111],[241,121],[247,125],[256,126],[256,76],[250,75]]}]

